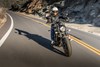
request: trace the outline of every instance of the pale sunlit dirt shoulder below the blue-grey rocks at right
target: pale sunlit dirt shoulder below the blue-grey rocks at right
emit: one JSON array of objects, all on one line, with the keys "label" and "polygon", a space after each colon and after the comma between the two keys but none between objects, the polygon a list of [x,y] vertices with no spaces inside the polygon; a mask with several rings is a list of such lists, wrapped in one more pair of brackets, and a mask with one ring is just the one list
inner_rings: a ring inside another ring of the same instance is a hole
[{"label": "pale sunlit dirt shoulder below the blue-grey rocks at right", "polygon": [[91,24],[66,23],[66,26],[100,36],[100,27],[95,27]]}]

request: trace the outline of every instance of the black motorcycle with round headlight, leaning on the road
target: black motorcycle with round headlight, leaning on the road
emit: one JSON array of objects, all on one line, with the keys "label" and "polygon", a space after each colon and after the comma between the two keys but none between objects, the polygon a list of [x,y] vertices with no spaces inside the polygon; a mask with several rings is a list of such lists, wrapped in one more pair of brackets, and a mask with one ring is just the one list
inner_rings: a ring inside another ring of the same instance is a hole
[{"label": "black motorcycle with round headlight, leaning on the road", "polygon": [[52,47],[58,46],[58,47],[63,47],[65,55],[67,57],[70,57],[72,55],[72,47],[71,47],[71,39],[69,37],[69,32],[71,31],[66,30],[66,26],[65,23],[62,21],[56,22],[54,24],[54,31],[55,31],[55,35],[54,35],[54,40],[55,40],[55,44],[52,45]]}]

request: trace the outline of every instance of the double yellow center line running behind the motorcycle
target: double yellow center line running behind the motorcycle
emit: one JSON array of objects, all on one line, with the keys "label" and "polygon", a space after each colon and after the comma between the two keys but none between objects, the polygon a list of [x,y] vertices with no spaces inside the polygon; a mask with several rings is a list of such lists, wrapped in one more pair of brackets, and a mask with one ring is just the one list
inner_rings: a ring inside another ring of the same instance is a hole
[{"label": "double yellow center line running behind the motorcycle", "polygon": [[[25,17],[25,16],[24,16],[24,17]],[[26,17],[26,18],[31,19],[31,18],[29,18],[29,17]],[[43,22],[40,22],[40,21],[35,20],[35,19],[31,19],[31,20],[33,20],[33,21],[35,21],[35,22],[37,22],[37,23],[43,24],[44,26],[50,28],[50,25],[47,25],[47,24],[45,24],[45,23],[43,23]],[[84,46],[85,48],[89,49],[90,51],[92,51],[92,52],[94,52],[95,54],[97,54],[97,55],[100,56],[100,50],[99,50],[99,49],[96,49],[96,48],[90,46],[89,44],[83,42],[82,40],[77,39],[76,37],[74,37],[74,36],[72,36],[72,35],[70,35],[70,38],[71,38],[72,40],[74,40],[75,42],[77,42],[78,44]]]}]

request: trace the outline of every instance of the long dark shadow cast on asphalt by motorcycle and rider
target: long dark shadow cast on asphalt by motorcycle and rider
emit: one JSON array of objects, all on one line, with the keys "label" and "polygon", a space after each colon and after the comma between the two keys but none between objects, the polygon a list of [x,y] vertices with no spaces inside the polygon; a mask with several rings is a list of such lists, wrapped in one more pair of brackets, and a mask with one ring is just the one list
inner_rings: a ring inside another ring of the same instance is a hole
[{"label": "long dark shadow cast on asphalt by motorcycle and rider", "polygon": [[31,34],[29,32],[26,32],[26,31],[23,31],[23,30],[19,30],[19,29],[16,29],[16,28],[15,28],[15,30],[17,31],[16,33],[18,33],[19,35],[23,35],[23,36],[25,36],[25,37],[33,40],[33,41],[36,41],[39,45],[41,45],[41,46],[43,46],[43,47],[45,47],[45,48],[57,53],[57,54],[65,56],[65,54],[62,51],[60,51],[60,50],[58,50],[56,48],[52,48],[50,46],[50,42],[51,42],[50,40],[48,40],[48,39],[46,39],[46,38],[44,38],[42,36],[39,36],[37,34]]}]

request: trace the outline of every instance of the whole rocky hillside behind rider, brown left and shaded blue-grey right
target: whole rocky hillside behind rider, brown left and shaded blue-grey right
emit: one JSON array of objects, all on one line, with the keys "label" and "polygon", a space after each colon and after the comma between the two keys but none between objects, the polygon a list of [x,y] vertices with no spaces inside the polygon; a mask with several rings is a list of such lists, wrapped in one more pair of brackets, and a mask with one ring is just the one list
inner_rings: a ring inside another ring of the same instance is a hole
[{"label": "whole rocky hillside behind rider, brown left and shaded blue-grey right", "polygon": [[[11,9],[43,16],[52,6],[61,8],[60,13],[68,15],[69,21],[100,26],[100,0],[1,0],[9,1]],[[8,6],[7,5],[7,6]]]}]

